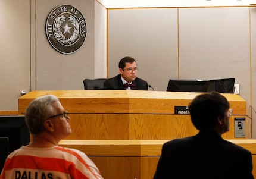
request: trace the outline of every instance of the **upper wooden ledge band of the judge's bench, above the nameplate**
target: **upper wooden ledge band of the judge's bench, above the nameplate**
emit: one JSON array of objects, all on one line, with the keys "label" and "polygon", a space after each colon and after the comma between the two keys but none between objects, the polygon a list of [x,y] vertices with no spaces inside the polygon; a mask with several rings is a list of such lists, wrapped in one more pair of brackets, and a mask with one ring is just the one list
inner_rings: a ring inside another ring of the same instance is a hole
[{"label": "upper wooden ledge band of the judge's bench, above the nameplate", "polygon": [[[174,114],[174,106],[188,106],[200,93],[141,90],[33,91],[18,98],[18,112],[24,114],[39,96],[55,95],[73,114]],[[234,115],[246,115],[246,101],[239,95],[223,94]]]}]

